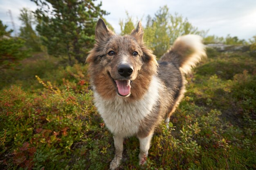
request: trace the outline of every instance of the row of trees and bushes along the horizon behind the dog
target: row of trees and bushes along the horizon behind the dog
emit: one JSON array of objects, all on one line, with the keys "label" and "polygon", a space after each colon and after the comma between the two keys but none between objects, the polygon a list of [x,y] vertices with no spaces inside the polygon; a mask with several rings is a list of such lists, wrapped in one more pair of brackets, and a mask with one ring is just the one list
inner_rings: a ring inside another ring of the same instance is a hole
[{"label": "row of trees and bushes along the horizon behind the dog", "polygon": [[[31,52],[44,52],[46,55],[61,57],[72,65],[84,63],[88,52],[94,44],[94,29],[99,18],[109,13],[101,9],[101,3],[95,5],[90,0],[32,0],[38,8],[35,11],[23,8],[19,19],[22,22],[18,37],[11,37],[7,26],[0,21],[0,69],[13,68]],[[129,34],[136,22],[126,12],[127,17],[120,19],[121,35]],[[142,18],[141,18],[142,20]],[[105,20],[110,29],[113,27]],[[33,27],[36,26],[34,30]],[[204,43],[252,44],[256,50],[256,36],[246,42],[238,37],[227,35],[226,38],[207,35],[208,30],[198,30],[187,18],[169,12],[167,6],[159,7],[154,16],[146,17],[144,42],[157,57],[163,55],[180,35],[198,34]]]}]

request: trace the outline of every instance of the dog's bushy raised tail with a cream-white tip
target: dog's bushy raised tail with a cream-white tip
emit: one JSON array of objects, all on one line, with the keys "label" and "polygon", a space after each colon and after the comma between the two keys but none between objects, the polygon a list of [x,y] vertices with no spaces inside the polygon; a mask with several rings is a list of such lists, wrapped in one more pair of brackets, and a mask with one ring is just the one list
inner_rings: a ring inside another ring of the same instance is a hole
[{"label": "dog's bushy raised tail with a cream-white tip", "polygon": [[183,35],[175,40],[171,51],[165,53],[160,58],[160,62],[171,62],[178,66],[183,73],[188,74],[204,57],[207,55],[202,37]]}]

